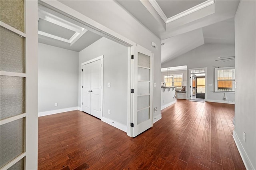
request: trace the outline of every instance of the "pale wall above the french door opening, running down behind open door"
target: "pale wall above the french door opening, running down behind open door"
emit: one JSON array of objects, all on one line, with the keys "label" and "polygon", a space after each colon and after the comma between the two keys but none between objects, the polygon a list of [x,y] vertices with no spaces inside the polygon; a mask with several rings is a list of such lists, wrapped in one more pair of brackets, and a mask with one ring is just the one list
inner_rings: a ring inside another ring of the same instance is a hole
[{"label": "pale wall above the french door opening, running down behind open door", "polygon": [[[60,2],[154,53],[154,83],[157,86],[154,87],[153,108],[157,107],[158,111],[153,117],[159,117],[161,113],[161,40],[112,0],[61,0]],[[158,49],[153,48],[151,42],[155,42]]]}]

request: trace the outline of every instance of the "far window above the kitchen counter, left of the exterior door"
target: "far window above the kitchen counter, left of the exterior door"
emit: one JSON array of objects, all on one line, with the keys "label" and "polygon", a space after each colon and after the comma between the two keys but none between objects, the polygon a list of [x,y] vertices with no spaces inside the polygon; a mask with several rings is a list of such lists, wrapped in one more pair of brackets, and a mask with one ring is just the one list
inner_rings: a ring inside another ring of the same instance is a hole
[{"label": "far window above the kitchen counter, left of the exterior door", "polygon": [[166,86],[177,86],[177,88],[182,88],[182,76],[183,74],[175,75],[164,75],[164,83]]}]

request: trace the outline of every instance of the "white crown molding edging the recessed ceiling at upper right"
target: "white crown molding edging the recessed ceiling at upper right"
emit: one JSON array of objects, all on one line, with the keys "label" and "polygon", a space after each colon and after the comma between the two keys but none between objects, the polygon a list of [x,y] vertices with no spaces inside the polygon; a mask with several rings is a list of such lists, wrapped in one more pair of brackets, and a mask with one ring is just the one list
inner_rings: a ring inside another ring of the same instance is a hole
[{"label": "white crown molding edging the recessed ceiling at upper right", "polygon": [[156,12],[159,14],[159,16],[162,18],[162,20],[168,24],[174,20],[178,20],[179,18],[182,18],[188,14],[191,14],[193,12],[196,12],[198,10],[201,10],[202,8],[205,8],[207,6],[210,6],[214,4],[214,0],[207,0],[205,2],[202,2],[201,4],[198,4],[196,6],[193,6],[192,8],[185,10],[183,12],[180,12],[179,14],[176,14],[175,16],[172,16],[170,18],[167,18],[164,12],[162,11],[161,7],[158,5],[156,0],[149,0],[150,4],[153,6],[153,8],[156,10]]}]

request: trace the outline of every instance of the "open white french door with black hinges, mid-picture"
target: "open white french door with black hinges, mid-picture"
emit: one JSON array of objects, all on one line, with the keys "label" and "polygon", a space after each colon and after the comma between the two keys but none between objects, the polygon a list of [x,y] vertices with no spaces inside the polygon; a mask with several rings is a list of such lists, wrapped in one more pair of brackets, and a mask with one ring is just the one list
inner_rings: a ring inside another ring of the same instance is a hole
[{"label": "open white french door with black hinges, mid-picture", "polygon": [[141,46],[134,47],[132,57],[132,137],[152,127],[153,54]]}]

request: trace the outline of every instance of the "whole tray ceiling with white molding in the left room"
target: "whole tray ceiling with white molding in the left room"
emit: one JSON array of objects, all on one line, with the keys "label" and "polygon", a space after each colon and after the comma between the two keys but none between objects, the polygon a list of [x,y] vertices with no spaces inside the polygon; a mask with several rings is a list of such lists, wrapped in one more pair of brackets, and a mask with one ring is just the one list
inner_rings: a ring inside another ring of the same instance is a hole
[{"label": "whole tray ceiling with white molding in the left room", "polygon": [[41,5],[38,6],[38,17],[40,43],[79,52],[102,38],[82,24]]}]

